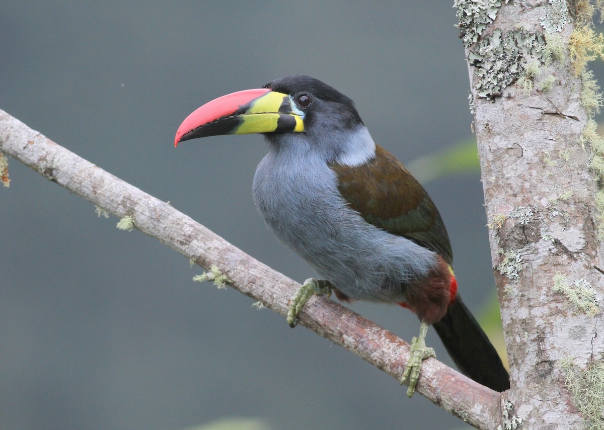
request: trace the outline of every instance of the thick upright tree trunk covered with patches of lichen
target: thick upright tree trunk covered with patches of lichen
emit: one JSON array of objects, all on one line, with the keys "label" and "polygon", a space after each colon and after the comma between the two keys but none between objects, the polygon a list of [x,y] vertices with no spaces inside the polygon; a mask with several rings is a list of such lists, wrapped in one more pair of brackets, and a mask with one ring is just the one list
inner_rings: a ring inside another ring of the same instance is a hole
[{"label": "thick upright tree trunk covered with patches of lichen", "polygon": [[604,428],[604,145],[584,61],[602,51],[593,7],[455,7],[510,361],[506,428]]}]

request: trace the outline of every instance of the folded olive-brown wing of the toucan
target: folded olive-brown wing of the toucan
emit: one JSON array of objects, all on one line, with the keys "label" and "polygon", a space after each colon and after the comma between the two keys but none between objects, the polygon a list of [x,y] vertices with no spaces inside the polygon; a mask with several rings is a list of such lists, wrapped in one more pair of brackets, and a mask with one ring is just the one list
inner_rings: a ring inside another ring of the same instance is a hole
[{"label": "folded olive-brown wing of the toucan", "polygon": [[359,166],[331,164],[345,201],[370,224],[406,237],[452,265],[451,243],[432,199],[394,156],[376,146],[373,159]]}]

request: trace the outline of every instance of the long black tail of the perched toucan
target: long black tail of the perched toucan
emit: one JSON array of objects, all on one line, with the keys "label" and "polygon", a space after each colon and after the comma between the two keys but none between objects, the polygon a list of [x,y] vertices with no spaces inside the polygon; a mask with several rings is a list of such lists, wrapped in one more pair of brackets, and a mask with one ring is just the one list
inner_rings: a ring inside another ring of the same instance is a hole
[{"label": "long black tail of the perched toucan", "polygon": [[510,388],[501,358],[459,294],[446,315],[432,326],[461,373],[495,391]]}]

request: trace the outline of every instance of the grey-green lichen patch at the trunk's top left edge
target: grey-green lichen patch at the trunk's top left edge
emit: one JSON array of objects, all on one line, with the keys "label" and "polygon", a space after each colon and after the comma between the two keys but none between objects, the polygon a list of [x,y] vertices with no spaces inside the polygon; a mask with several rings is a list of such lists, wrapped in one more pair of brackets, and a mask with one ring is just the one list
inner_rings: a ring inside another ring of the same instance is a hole
[{"label": "grey-green lichen patch at the trunk's top left edge", "polygon": [[458,22],[456,27],[460,30],[464,47],[475,43],[487,25],[495,21],[501,4],[501,0],[454,0]]}]

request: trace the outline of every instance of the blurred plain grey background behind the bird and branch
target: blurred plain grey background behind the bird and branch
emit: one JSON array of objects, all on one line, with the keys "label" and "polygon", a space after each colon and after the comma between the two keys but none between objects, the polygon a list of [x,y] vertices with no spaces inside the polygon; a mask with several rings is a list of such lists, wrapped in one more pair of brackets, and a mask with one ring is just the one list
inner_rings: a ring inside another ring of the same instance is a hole
[{"label": "blurred plain grey background behind the bird and branch", "polygon": [[[303,281],[251,199],[259,135],[175,149],[196,107],[308,74],[356,101],[401,161],[471,138],[452,2],[47,2],[0,6],[0,108]],[[396,380],[10,159],[0,188],[0,429],[463,428]],[[420,172],[418,172],[420,173]],[[494,294],[478,172],[428,182],[455,273]],[[350,307],[409,340],[416,316]],[[433,331],[429,344],[451,364]],[[423,424],[422,424],[423,422]]]}]

